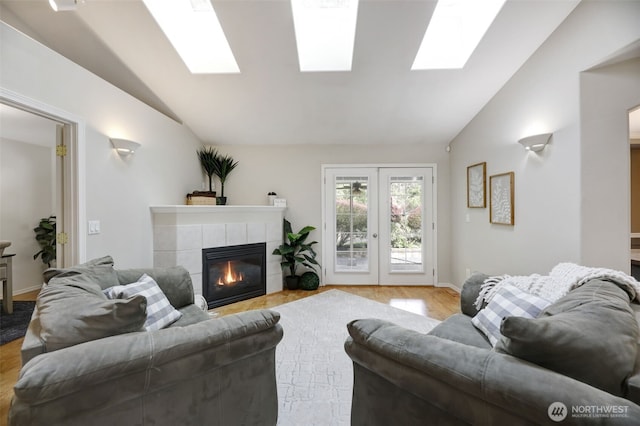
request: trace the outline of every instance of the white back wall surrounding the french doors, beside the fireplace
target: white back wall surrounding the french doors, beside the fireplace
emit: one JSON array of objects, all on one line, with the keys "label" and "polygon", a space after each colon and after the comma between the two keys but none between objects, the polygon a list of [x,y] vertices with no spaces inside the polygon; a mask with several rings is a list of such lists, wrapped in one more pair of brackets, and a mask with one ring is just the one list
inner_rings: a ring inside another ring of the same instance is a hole
[{"label": "white back wall surrounding the french doors, beside the fireplace", "polygon": [[[279,145],[217,146],[239,161],[229,175],[225,195],[230,204],[266,204],[274,191],[287,199],[286,217],[294,230],[311,225],[311,237],[321,241],[323,164],[435,163],[438,167],[439,282],[450,283],[449,154],[444,145]],[[219,191],[219,185],[217,186]],[[322,253],[321,245],[316,250]],[[322,263],[322,259],[320,259]]]}]

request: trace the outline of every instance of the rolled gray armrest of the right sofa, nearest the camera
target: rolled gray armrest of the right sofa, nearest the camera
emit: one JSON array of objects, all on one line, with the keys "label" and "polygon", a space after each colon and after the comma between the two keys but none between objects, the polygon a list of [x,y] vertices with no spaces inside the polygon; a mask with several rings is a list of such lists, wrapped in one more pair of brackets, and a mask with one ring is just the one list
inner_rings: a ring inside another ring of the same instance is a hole
[{"label": "rolled gray armrest of the right sofa, nearest the camera", "polygon": [[[510,355],[383,320],[355,320],[348,330],[345,350],[354,364],[462,422],[514,424],[527,419],[525,423],[544,424],[549,422],[547,410],[553,402],[564,403],[568,410],[585,405],[624,406],[628,423],[640,418],[640,407],[631,401]],[[360,399],[358,403],[367,402]],[[360,413],[375,409],[358,407]],[[583,420],[567,418],[566,422]]]}]

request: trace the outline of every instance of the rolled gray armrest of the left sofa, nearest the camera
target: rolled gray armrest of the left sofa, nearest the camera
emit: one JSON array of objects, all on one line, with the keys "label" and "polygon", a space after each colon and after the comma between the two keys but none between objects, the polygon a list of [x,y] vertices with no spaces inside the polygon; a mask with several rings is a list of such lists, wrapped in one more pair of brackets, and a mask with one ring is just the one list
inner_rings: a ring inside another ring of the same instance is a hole
[{"label": "rolled gray armrest of the left sofa, nearest the camera", "polygon": [[14,404],[61,400],[67,409],[80,411],[91,409],[95,401],[106,406],[122,403],[134,394],[150,394],[173,382],[274,350],[282,338],[279,319],[274,311],[249,311],[45,353],[22,368]]}]

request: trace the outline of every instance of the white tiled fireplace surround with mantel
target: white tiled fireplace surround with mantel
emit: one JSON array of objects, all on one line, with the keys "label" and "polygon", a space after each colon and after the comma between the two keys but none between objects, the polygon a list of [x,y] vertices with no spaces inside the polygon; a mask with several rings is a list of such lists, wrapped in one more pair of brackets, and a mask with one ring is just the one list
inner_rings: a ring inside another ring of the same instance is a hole
[{"label": "white tiled fireplace surround with mantel", "polygon": [[280,257],[285,208],[272,206],[152,206],[153,264],[184,266],[202,294],[202,249],[266,243],[267,294],[282,290]]}]

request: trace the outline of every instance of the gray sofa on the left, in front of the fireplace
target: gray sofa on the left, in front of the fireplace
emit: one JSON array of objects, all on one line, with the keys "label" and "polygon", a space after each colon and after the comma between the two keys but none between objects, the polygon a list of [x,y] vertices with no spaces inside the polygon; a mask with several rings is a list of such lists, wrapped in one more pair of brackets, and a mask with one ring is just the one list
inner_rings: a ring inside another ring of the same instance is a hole
[{"label": "gray sofa on the left, in front of the fireplace", "polygon": [[[147,298],[102,292],[144,273],[181,314],[166,328],[140,331]],[[278,313],[211,319],[184,268],[115,270],[108,256],[48,270],[45,281],[9,425],[276,424]]]}]

